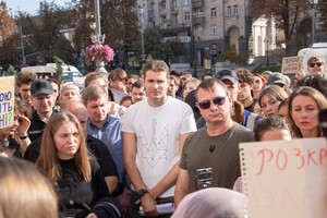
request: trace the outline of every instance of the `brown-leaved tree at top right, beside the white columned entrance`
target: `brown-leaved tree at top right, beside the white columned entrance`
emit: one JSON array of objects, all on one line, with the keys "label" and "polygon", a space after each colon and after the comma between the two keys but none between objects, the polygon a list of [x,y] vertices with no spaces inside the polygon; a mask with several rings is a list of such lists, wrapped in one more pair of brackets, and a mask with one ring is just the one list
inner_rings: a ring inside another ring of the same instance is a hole
[{"label": "brown-leaved tree at top right, beside the white columned entrance", "polygon": [[292,37],[300,15],[310,8],[310,0],[250,0],[249,5],[254,19],[276,19],[276,27],[283,31],[286,55],[292,53]]}]

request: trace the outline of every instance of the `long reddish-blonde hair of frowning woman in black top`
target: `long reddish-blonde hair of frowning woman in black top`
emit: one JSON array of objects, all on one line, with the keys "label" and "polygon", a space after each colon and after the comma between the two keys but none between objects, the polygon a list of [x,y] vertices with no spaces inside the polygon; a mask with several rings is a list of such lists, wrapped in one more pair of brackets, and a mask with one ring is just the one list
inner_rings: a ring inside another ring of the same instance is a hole
[{"label": "long reddish-blonde hair of frowning woman in black top", "polygon": [[44,173],[49,178],[52,184],[61,178],[61,167],[57,156],[57,148],[53,140],[55,133],[59,128],[65,122],[73,122],[80,134],[80,148],[75,154],[75,165],[78,171],[83,174],[86,181],[90,180],[90,166],[89,159],[92,156],[88,154],[85,135],[83,129],[80,124],[80,121],[75,116],[65,111],[58,112],[53,114],[48,121],[44,135],[43,143],[40,148],[40,155],[36,161],[36,165],[39,166]]}]

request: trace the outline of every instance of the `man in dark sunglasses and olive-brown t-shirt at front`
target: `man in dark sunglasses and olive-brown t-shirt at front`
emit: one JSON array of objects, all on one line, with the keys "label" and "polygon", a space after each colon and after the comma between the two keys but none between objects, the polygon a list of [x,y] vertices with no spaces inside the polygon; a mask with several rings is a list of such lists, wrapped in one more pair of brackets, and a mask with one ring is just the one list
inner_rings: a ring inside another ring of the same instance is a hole
[{"label": "man in dark sunglasses and olive-brown t-shirt at front", "polygon": [[205,80],[195,93],[196,106],[207,125],[185,140],[174,192],[175,206],[189,192],[232,189],[241,174],[239,143],[254,141],[251,130],[232,121],[232,96],[221,81]]}]

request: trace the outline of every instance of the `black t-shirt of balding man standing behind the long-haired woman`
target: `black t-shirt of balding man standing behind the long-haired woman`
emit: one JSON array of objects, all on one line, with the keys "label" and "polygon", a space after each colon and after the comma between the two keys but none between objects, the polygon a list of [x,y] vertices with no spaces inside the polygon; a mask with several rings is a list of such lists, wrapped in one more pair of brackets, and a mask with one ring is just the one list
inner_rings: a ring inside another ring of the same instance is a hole
[{"label": "black t-shirt of balding man standing behind the long-haired woman", "polygon": [[[36,162],[41,146],[41,136],[35,140],[26,149],[24,159]],[[86,144],[89,152],[96,157],[105,177],[118,177],[117,166],[106,147],[106,145],[90,136],[86,135]]]}]

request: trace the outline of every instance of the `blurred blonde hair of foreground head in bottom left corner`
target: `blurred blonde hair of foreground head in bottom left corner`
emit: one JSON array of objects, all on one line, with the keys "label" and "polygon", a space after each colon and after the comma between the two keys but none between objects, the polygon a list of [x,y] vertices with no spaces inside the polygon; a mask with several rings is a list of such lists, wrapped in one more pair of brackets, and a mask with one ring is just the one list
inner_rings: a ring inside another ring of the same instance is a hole
[{"label": "blurred blonde hair of foreground head in bottom left corner", "polygon": [[29,162],[0,157],[0,218],[58,218],[57,194]]}]

